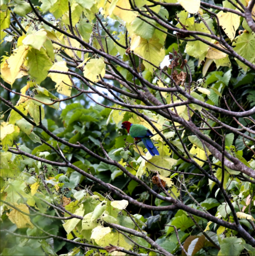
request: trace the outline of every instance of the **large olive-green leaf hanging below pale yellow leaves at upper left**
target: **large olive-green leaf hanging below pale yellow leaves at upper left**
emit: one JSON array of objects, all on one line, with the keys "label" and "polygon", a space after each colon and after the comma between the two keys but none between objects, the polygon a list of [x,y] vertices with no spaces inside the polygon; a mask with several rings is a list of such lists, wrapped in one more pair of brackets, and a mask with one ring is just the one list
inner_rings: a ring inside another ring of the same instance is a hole
[{"label": "large olive-green leaf hanging below pale yellow leaves at upper left", "polygon": [[40,51],[31,48],[27,54],[26,66],[28,66],[28,74],[31,78],[41,83],[48,75],[48,71],[52,66],[46,50],[41,48]]}]

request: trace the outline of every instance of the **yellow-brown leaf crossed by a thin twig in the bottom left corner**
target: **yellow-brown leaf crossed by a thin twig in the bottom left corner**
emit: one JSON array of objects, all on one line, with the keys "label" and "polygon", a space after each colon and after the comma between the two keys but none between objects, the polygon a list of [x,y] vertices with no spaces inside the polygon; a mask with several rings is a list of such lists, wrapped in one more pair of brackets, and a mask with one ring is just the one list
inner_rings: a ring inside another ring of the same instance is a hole
[{"label": "yellow-brown leaf crossed by a thin twig in the bottom left corner", "polygon": [[[22,210],[23,212],[29,214],[29,210],[26,204],[13,203],[13,205],[17,207],[19,210]],[[10,213],[6,213],[6,215],[9,217],[12,223],[17,225],[17,228],[34,227],[30,221],[30,217],[23,213],[20,213],[18,210],[13,209]]]}]

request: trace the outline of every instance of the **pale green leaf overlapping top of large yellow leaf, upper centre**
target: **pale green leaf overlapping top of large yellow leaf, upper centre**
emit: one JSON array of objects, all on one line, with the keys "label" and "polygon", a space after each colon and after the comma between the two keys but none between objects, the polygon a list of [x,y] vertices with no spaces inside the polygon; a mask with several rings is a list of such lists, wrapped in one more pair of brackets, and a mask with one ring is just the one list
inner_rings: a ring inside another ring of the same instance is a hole
[{"label": "pale green leaf overlapping top of large yellow leaf, upper centre", "polygon": [[[155,23],[153,20],[147,19],[150,23]],[[146,23],[145,21],[139,19],[139,17],[136,17],[132,23],[131,23],[133,32],[136,33],[136,35],[139,35],[140,37],[150,40],[150,38],[153,36],[155,28],[151,26],[150,24]]]}]

